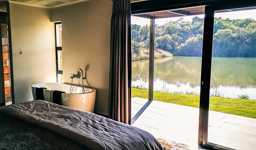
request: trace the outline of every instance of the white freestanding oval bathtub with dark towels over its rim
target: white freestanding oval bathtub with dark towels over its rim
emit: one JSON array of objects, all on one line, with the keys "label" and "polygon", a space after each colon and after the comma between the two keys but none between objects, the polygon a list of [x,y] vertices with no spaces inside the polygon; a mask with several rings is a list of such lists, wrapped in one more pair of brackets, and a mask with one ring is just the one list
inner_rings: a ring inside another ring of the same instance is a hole
[{"label": "white freestanding oval bathtub with dark towels over its rim", "polygon": [[84,87],[84,93],[82,92],[82,86],[72,85],[70,93],[70,85],[63,83],[38,83],[31,86],[32,93],[34,87],[45,87],[44,100],[50,102],[51,90],[59,90],[66,93],[61,94],[62,105],[85,112],[94,112],[94,104],[96,98],[96,90],[89,87]]}]

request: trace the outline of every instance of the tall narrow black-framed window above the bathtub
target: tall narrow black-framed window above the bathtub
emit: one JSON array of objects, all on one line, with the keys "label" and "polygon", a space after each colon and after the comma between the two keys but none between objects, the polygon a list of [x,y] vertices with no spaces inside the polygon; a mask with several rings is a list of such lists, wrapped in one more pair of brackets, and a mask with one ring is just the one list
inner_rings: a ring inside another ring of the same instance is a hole
[{"label": "tall narrow black-framed window above the bathtub", "polygon": [[63,82],[63,63],[62,63],[62,24],[55,23],[55,50],[56,50],[56,78],[57,82]]}]

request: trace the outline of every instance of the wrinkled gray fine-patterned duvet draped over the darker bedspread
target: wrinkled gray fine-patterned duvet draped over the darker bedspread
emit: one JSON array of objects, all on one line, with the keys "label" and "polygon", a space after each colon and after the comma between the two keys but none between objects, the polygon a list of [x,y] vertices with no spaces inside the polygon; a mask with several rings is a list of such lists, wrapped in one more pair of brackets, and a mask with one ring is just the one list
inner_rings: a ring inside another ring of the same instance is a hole
[{"label": "wrinkled gray fine-patterned duvet draped over the darker bedspread", "polygon": [[3,106],[0,107],[0,113],[55,132],[86,149],[162,150],[161,144],[141,129],[46,101]]}]

